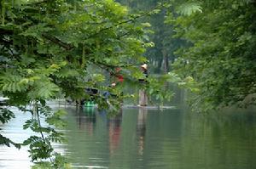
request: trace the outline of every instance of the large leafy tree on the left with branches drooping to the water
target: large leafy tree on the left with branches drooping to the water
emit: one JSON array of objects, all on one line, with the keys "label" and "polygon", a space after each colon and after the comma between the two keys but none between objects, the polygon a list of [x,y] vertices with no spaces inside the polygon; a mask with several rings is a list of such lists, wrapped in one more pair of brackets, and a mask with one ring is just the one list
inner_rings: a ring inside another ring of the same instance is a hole
[{"label": "large leafy tree on the left with branches drooping to the water", "polygon": [[[17,144],[0,134],[0,144],[30,145],[32,161],[64,167],[61,155],[50,144],[61,142],[63,134],[40,122],[43,115],[49,125],[64,126],[64,112],[52,112],[46,101],[60,95],[86,99],[90,96],[84,93],[85,87],[119,95],[119,88],[104,85],[108,82],[104,73],[91,74],[88,68],[108,72],[122,67],[127,78],[137,81],[143,76],[137,65],[146,61],[142,54],[150,46],[143,38],[148,25],[137,23],[140,14],[128,14],[112,0],[1,0],[0,4],[0,91],[9,98],[1,106],[0,120],[5,123],[13,118],[9,106],[15,106],[32,113],[24,129],[41,136]],[[154,88],[150,91],[154,93]],[[96,101],[99,108],[110,108],[102,95]],[[115,99],[109,101],[120,106]],[[32,106],[27,107],[29,104]],[[44,161],[48,158],[52,163]]]}]

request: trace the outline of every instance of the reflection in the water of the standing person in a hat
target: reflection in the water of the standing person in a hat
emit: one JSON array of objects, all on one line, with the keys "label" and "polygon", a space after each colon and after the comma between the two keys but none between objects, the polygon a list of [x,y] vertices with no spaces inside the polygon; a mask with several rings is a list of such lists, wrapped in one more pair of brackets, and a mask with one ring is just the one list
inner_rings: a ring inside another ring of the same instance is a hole
[{"label": "reflection in the water of the standing person in a hat", "polygon": [[138,154],[143,155],[148,110],[139,109],[137,115]]}]

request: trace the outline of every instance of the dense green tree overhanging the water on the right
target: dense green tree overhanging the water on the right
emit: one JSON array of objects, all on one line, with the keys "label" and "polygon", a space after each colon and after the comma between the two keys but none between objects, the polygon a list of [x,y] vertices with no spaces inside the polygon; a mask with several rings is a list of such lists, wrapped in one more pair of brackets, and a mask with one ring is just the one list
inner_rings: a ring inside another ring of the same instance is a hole
[{"label": "dense green tree overhanging the water on the right", "polygon": [[192,76],[200,89],[195,109],[255,104],[255,1],[197,1],[202,13],[173,20],[190,46],[177,52],[175,72]]}]

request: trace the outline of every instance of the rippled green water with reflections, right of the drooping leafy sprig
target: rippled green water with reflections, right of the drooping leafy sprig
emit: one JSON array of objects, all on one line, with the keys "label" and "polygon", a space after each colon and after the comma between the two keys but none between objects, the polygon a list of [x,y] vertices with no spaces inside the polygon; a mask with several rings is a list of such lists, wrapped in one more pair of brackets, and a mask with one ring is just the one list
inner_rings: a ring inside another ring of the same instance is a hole
[{"label": "rippled green water with reflections, right of the drooping leafy sprig", "polygon": [[256,168],[256,113],[224,110],[125,109],[108,119],[97,110],[67,109],[74,168]]}]

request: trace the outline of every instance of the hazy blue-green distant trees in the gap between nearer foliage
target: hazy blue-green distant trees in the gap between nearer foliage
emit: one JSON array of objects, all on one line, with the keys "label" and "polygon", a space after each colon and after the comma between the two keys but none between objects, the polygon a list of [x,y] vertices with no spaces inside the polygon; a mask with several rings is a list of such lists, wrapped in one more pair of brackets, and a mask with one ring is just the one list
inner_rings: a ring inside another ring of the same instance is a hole
[{"label": "hazy blue-green distant trees in the gap between nearer foliage", "polygon": [[150,10],[156,6],[160,7],[154,14],[150,14],[148,17],[140,20],[151,25],[152,32],[149,32],[146,36],[148,40],[154,42],[154,47],[147,48],[144,55],[148,58],[150,62],[149,67],[154,73],[168,72],[170,70],[169,62],[173,62],[175,59],[174,51],[183,45],[183,41],[180,39],[172,38],[174,34],[173,26],[165,24],[165,16],[173,8],[170,8],[170,5],[164,0],[119,0],[119,2],[130,7],[133,12]]}]

